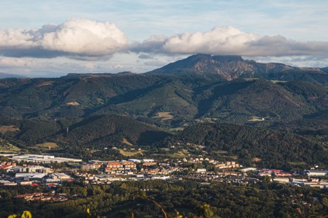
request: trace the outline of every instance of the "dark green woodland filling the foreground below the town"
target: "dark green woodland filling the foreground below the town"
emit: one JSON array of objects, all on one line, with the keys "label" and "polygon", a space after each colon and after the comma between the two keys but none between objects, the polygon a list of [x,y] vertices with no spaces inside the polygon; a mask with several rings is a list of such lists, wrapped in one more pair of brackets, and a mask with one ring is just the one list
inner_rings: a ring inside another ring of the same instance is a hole
[{"label": "dark green woodland filling the foreground below the town", "polygon": [[226,183],[200,183],[184,180],[114,182],[111,185],[66,184],[55,188],[65,193],[68,201],[47,203],[25,201],[13,196],[36,191],[50,192],[45,188],[0,187],[0,217],[28,210],[33,218],[83,218],[86,209],[107,218],[135,218],[161,216],[161,211],[150,200],[159,203],[167,213],[176,211],[184,217],[199,215],[197,208],[209,204],[211,210],[224,218],[304,218],[328,215],[328,192],[325,189],[302,188],[270,183],[263,179],[253,185]]}]

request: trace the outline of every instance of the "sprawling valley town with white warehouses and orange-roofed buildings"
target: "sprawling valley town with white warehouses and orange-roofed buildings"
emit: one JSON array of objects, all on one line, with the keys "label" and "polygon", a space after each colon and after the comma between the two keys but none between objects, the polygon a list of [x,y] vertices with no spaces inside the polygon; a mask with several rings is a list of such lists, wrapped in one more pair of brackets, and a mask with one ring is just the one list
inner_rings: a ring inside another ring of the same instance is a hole
[{"label": "sprawling valley town with white warehouses and orange-roofed buildings", "polygon": [[[192,179],[202,184],[225,182],[256,183],[263,176],[278,183],[296,186],[328,188],[328,171],[318,166],[301,173],[288,173],[278,169],[245,168],[235,161],[219,162],[196,155],[188,158],[89,160],[55,157],[43,154],[0,154],[8,161],[0,163],[0,185],[47,186],[49,189],[66,182],[81,181],[85,184],[110,184],[114,181],[165,179]],[[53,168],[52,163],[63,164]],[[202,166],[202,167],[199,167]],[[62,194],[47,196],[33,193],[18,195],[26,200],[63,201]]]}]

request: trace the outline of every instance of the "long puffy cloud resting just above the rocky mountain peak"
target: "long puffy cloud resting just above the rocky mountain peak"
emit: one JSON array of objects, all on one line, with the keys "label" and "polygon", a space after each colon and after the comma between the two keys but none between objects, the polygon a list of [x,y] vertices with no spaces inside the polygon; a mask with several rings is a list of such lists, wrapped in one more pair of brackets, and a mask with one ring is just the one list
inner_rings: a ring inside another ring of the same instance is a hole
[{"label": "long puffy cloud resting just above the rocky mountain peak", "polygon": [[328,42],[299,42],[283,36],[259,36],[231,26],[207,32],[182,33],[170,37],[151,36],[131,44],[134,52],[244,56],[328,55]]}]

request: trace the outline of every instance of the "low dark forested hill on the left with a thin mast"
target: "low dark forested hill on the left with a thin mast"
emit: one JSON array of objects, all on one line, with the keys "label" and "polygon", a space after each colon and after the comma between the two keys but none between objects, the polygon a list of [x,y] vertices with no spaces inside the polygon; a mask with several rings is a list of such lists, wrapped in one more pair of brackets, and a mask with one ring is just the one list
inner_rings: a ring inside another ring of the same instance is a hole
[{"label": "low dark forested hill on the left with a thin mast", "polygon": [[[115,144],[152,144],[171,133],[125,116],[95,115],[88,118],[59,120],[0,118],[0,136],[32,148],[35,144],[54,142],[88,148]],[[68,133],[66,128],[69,128]]]}]

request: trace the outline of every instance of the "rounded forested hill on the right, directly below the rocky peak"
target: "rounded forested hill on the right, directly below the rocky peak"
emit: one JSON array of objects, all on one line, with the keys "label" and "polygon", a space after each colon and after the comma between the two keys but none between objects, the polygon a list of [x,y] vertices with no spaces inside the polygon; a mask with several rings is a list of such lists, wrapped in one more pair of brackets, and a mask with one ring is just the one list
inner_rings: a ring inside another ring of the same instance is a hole
[{"label": "rounded forested hill on the right, directly below the rocky peak", "polygon": [[246,123],[255,116],[265,117],[263,123],[268,123],[300,119],[305,114],[326,109],[327,97],[327,87],[316,84],[234,80],[200,88],[195,102],[199,106],[198,117]]}]

